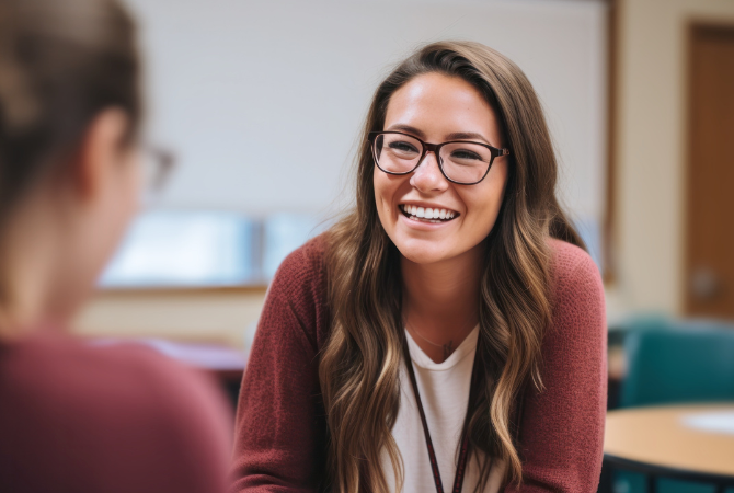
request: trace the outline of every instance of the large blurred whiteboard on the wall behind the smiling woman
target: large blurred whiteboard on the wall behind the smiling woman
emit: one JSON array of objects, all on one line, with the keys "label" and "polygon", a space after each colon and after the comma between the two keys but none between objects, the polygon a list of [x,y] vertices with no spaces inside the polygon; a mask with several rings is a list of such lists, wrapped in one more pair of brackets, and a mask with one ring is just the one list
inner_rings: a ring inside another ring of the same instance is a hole
[{"label": "large blurred whiteboard on the wall behind the smiling woman", "polygon": [[606,156],[601,1],[131,0],[151,138],[179,167],[160,205],[253,217],[348,205],[367,106],[421,44],[484,43],[528,74],[562,163],[560,193],[598,223]]}]

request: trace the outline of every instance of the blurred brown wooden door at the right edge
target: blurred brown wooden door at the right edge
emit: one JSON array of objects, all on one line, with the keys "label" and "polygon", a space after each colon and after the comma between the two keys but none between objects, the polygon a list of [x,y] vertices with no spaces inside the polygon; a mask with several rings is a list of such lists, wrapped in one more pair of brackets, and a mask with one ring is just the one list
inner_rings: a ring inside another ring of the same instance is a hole
[{"label": "blurred brown wooden door at the right edge", "polygon": [[689,44],[686,311],[734,320],[734,25]]}]

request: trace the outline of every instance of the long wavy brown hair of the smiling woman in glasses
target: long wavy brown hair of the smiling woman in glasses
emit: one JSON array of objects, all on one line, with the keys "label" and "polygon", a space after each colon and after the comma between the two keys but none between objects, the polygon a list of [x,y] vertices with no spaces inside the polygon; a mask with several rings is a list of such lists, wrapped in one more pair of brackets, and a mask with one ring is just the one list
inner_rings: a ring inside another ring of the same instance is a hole
[{"label": "long wavy brown hair of the smiling woman in glasses", "polygon": [[326,268],[331,335],[319,366],[330,433],[329,480],[340,492],[387,492],[386,449],[403,483],[391,435],[400,405],[402,280],[400,252],[380,223],[369,131],[383,129],[391,95],[429,72],[459,77],[496,113],[511,149],[503,205],[485,239],[480,298],[478,398],[465,426],[482,451],[480,484],[491,458],[507,463],[504,482],[521,483],[516,448],[518,401],[526,385],[542,390],[541,343],[551,321],[548,238],[583,248],[555,197],[557,161],[542,107],[523,71],[478,43],[434,43],[415,51],[378,87],[357,156],[356,208],[329,233]]}]

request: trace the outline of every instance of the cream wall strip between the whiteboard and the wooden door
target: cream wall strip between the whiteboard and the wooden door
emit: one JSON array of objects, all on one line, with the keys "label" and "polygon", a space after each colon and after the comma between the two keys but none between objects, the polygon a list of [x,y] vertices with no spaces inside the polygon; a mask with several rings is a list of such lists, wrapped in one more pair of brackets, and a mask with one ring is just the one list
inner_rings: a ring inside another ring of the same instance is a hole
[{"label": "cream wall strip between the whiteboard and the wooden door", "polygon": [[620,0],[617,277],[624,310],[684,302],[687,33],[734,25],[731,0]]}]

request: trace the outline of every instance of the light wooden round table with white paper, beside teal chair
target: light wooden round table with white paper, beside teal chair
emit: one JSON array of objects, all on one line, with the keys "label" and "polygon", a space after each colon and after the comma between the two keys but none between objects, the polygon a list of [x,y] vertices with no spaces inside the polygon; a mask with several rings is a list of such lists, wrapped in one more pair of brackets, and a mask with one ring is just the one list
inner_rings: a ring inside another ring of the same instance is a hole
[{"label": "light wooden round table with white paper, beside teal chair", "polygon": [[647,489],[667,477],[734,485],[734,402],[609,411],[604,443],[607,467],[642,472]]}]

